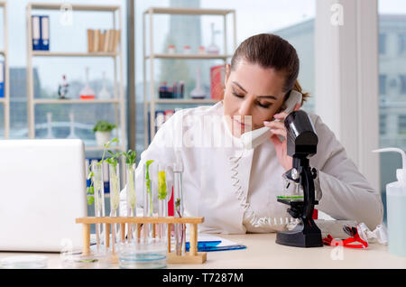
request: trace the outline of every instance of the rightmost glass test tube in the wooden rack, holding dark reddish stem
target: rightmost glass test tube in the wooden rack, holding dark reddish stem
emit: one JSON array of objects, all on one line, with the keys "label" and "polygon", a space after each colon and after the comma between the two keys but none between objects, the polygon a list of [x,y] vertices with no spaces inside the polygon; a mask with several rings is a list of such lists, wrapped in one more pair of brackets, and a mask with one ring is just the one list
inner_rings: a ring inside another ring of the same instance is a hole
[{"label": "rightmost glass test tube in the wooden rack, holding dark reddish stem", "polygon": [[[173,164],[173,210],[175,218],[183,217],[183,186],[182,186],[183,167],[181,163]],[[186,228],[184,224],[175,224],[175,253],[176,255],[185,255]]]}]

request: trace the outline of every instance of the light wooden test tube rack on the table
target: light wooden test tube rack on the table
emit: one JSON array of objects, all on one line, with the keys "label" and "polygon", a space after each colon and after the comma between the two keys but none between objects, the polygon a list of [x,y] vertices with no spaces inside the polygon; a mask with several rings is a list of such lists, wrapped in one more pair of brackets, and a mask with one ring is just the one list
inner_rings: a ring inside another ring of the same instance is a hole
[{"label": "light wooden test tube rack on the table", "polygon": [[[204,218],[76,218],[76,223],[83,226],[83,255],[90,254],[90,225],[104,224],[106,230],[106,247],[109,248],[110,225],[119,224],[121,227],[121,241],[125,242],[125,225],[137,224],[137,236],[141,236],[141,224],[167,224],[168,225],[168,263],[169,264],[203,264],[206,262],[206,252],[198,252],[198,224],[203,223]],[[189,224],[189,252],[185,255],[176,255],[171,252],[171,224]],[[153,229],[155,230],[155,228]],[[113,247],[113,246],[112,246]],[[113,261],[116,262],[114,248],[112,248]]]}]

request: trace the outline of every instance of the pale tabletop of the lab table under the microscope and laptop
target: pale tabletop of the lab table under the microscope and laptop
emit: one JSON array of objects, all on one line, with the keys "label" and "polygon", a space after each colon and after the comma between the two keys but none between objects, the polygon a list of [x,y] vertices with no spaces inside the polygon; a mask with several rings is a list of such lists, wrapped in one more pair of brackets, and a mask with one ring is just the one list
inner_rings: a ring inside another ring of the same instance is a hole
[{"label": "pale tabletop of the lab table under the microscope and laptop", "polygon": [[[298,248],[275,243],[276,234],[217,235],[246,249],[208,252],[204,264],[168,264],[170,269],[406,269],[406,257],[391,255],[387,245],[372,243],[366,249],[342,246]],[[61,268],[58,253],[0,252],[0,258],[14,255],[45,255],[48,268]],[[118,268],[113,265],[112,268]]]}]

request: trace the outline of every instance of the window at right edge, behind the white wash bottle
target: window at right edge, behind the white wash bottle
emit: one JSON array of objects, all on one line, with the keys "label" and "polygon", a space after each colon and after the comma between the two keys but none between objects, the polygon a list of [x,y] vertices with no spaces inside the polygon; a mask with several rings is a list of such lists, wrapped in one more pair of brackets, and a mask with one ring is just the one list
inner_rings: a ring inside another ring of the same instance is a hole
[{"label": "window at right edge, behind the white wash bottle", "polygon": [[[393,75],[387,79],[389,86],[387,88],[383,88],[383,79],[380,77],[381,94],[383,92],[387,94],[385,103],[381,102],[379,106],[380,146],[406,150],[406,116],[403,116],[406,115],[406,97],[403,96],[406,94],[406,70],[400,64],[406,60],[406,2],[378,0],[378,14],[379,53],[387,52],[384,59],[378,58],[379,74]],[[394,41],[389,41],[389,36]],[[385,122],[386,124],[383,124]],[[401,166],[401,158],[397,154],[381,153],[380,159],[381,191],[383,206],[385,206],[386,184],[396,180],[395,172]]]}]

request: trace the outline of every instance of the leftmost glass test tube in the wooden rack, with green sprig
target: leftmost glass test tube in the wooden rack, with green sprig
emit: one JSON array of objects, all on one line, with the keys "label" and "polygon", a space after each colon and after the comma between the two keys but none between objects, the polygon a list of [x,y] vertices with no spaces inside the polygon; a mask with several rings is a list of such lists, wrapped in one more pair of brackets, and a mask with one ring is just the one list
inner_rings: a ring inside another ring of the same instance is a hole
[{"label": "leftmost glass test tube in the wooden rack, with green sprig", "polygon": [[[102,175],[102,167],[99,162],[92,162],[91,169],[93,172],[93,188],[95,197],[95,217],[105,216],[105,190]],[[104,245],[104,227],[102,224],[96,224],[96,242],[97,251],[100,250],[100,245]]]}]

